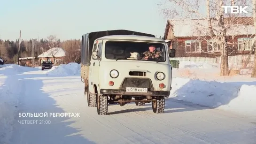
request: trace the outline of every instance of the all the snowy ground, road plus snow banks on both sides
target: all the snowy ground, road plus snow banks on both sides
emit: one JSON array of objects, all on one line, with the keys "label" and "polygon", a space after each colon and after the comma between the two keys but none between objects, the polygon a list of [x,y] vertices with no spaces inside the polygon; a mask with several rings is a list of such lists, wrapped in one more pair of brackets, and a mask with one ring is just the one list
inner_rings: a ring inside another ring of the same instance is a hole
[{"label": "all the snowy ground, road plus snow banks on both sides", "polygon": [[[0,144],[255,144],[256,79],[248,75],[221,77],[217,66],[184,62],[173,69],[164,114],[131,103],[100,116],[87,106],[79,71],[76,63],[0,68]],[[45,112],[80,117],[18,116]]]}]

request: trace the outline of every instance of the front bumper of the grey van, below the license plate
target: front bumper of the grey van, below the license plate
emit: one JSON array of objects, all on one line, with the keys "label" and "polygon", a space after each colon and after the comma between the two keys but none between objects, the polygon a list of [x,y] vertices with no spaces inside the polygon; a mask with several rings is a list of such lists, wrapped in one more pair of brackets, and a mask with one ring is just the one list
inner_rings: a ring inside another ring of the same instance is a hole
[{"label": "front bumper of the grey van, below the license plate", "polygon": [[101,94],[106,95],[132,95],[132,96],[164,96],[169,97],[170,91],[126,92],[126,90],[101,89]]}]

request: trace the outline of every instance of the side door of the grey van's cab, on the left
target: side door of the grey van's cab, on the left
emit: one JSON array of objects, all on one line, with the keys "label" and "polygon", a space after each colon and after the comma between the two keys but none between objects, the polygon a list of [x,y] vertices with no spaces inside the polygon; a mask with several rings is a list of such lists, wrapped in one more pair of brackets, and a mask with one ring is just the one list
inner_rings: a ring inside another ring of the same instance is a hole
[{"label": "side door of the grey van's cab, on the left", "polygon": [[[91,73],[91,82],[93,82],[93,85],[95,84],[97,86],[98,92],[99,90],[99,69],[100,69],[100,61],[101,61],[101,50],[102,50],[102,41],[103,40],[98,40],[94,43],[93,45],[93,51],[96,51],[98,53],[98,59],[97,60],[93,60],[91,61],[91,69],[92,69],[92,73]],[[92,89],[93,90],[93,89]]]}]

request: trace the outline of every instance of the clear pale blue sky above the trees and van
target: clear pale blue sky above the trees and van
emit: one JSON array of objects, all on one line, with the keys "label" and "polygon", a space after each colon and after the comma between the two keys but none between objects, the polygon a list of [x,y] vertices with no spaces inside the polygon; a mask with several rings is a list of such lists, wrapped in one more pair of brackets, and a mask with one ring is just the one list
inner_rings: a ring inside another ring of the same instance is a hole
[{"label": "clear pale blue sky above the trees and van", "polygon": [[0,38],[79,39],[101,30],[133,30],[163,37],[160,0],[0,0]]}]

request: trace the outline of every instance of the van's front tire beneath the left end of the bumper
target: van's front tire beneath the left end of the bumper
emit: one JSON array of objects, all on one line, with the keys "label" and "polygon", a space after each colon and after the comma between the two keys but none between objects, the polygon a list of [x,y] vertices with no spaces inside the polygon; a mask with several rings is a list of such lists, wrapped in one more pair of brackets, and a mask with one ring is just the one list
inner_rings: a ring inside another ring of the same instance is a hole
[{"label": "van's front tire beneath the left end of the bumper", "polygon": [[107,95],[97,96],[97,112],[99,115],[108,114],[108,96]]}]

